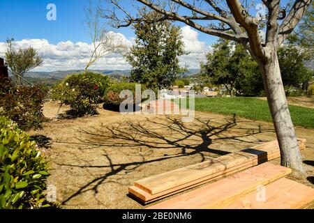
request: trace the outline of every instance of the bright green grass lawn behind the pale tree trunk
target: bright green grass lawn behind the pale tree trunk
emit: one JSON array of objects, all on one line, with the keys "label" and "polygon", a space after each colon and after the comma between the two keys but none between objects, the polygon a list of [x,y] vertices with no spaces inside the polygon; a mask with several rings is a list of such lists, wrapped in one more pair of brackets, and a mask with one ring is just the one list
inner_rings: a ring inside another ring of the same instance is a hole
[{"label": "bright green grass lawn behind the pale tree trunk", "polygon": [[[314,109],[289,105],[294,125],[314,128]],[[267,101],[258,98],[195,98],[195,110],[271,121]]]}]

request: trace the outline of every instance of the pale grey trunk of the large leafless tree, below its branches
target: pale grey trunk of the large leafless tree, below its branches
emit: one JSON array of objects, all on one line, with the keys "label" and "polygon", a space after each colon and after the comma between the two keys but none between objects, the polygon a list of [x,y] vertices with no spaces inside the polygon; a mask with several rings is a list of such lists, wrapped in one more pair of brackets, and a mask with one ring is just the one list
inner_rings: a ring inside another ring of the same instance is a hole
[{"label": "pale grey trunk of the large leafless tree, below its branches", "polygon": [[267,61],[260,62],[259,65],[262,70],[264,89],[280,146],[281,165],[291,167],[304,174],[305,168],[287,106],[276,50],[272,50],[270,55]]}]

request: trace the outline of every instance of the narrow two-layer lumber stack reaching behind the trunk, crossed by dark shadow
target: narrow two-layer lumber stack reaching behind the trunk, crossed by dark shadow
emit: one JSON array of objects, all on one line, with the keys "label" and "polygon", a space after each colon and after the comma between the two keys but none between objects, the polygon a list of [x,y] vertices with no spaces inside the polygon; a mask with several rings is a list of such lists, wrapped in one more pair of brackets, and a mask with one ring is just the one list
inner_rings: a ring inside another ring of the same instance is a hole
[{"label": "narrow two-layer lumber stack reaching behind the trunk, crossed by dark shadow", "polygon": [[[299,148],[305,148],[306,140],[298,141]],[[149,203],[278,157],[278,141],[270,141],[237,153],[137,180],[134,186],[128,188],[128,192],[142,203]]]}]

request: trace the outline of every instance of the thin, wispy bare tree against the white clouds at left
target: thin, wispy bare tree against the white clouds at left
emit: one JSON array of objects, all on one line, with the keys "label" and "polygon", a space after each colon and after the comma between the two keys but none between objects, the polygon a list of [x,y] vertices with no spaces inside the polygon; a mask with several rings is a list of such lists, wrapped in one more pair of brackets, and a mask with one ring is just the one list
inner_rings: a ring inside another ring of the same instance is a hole
[{"label": "thin, wispy bare tree against the white clouds at left", "polygon": [[85,8],[85,13],[86,24],[93,45],[91,57],[84,69],[87,72],[87,69],[98,61],[98,59],[111,53],[124,52],[126,45],[123,44],[123,40],[119,34],[105,29],[105,24],[100,22],[97,8],[94,8],[91,1],[89,1],[89,7]]}]

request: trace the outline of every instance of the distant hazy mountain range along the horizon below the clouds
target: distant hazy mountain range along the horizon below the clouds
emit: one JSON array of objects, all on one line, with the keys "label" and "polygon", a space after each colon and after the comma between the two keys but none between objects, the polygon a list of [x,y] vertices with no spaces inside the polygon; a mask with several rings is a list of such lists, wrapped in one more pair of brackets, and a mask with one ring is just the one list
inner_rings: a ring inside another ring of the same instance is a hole
[{"label": "distant hazy mountain range along the horizon below the clouds", "polygon": [[[26,72],[24,74],[24,77],[63,79],[67,75],[83,71],[84,70],[56,70],[51,72]],[[130,70],[91,70],[91,71],[100,72],[103,73],[104,75],[110,75],[112,77],[117,78],[121,78],[123,76],[128,77],[130,75]],[[182,73],[180,76],[193,75],[197,72],[200,72],[200,69],[190,69],[188,72]]]}]

